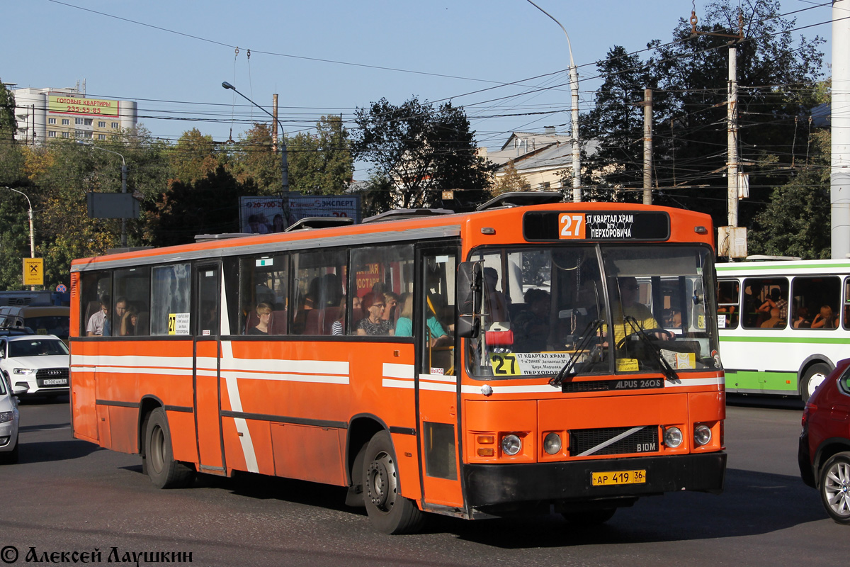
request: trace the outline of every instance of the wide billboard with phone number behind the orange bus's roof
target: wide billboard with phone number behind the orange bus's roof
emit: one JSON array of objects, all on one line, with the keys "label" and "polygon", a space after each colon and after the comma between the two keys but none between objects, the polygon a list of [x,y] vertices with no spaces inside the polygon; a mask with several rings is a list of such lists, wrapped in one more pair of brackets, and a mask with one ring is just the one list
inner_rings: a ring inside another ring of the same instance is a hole
[{"label": "wide billboard with phone number behind the orange bus's roof", "polygon": [[302,218],[348,217],[360,222],[360,196],[357,195],[291,195],[289,222],[284,222],[280,197],[240,197],[239,226],[241,232],[265,235],[280,232]]}]

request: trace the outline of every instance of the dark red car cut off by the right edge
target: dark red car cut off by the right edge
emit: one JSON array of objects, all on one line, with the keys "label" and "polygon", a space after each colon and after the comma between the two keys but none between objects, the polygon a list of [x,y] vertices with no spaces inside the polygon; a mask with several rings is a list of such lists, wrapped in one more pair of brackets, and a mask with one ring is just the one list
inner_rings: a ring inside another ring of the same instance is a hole
[{"label": "dark red car cut off by the right edge", "polygon": [[850,359],[840,361],[808,399],[797,460],[826,513],[850,524]]}]

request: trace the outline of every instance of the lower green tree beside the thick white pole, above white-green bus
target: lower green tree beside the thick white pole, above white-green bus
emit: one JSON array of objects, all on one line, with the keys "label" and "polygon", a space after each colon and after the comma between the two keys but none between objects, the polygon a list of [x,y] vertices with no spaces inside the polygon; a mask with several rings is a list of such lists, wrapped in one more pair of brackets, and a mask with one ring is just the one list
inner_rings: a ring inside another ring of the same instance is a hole
[{"label": "lower green tree beside the thick white pole, above white-green bus", "polygon": [[831,254],[830,133],[813,134],[813,163],[787,184],[774,187],[754,219],[748,252],[826,259]]}]

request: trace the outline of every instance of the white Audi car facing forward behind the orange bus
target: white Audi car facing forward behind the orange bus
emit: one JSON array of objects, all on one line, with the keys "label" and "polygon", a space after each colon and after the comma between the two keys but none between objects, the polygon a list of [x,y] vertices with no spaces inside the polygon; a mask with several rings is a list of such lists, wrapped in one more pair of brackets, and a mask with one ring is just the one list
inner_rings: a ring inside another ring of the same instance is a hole
[{"label": "white Audi car facing forward behind the orange bus", "polygon": [[54,335],[0,337],[0,373],[26,395],[68,393],[68,347]]}]

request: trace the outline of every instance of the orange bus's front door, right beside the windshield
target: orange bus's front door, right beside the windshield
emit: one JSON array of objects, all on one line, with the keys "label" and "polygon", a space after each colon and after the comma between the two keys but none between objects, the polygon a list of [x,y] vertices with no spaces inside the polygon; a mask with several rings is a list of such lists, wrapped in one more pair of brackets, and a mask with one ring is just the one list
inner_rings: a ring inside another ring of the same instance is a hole
[{"label": "orange bus's front door, right beside the windshield", "polygon": [[462,507],[458,368],[453,338],[457,247],[422,247],[415,288],[419,467],[426,506]]}]

